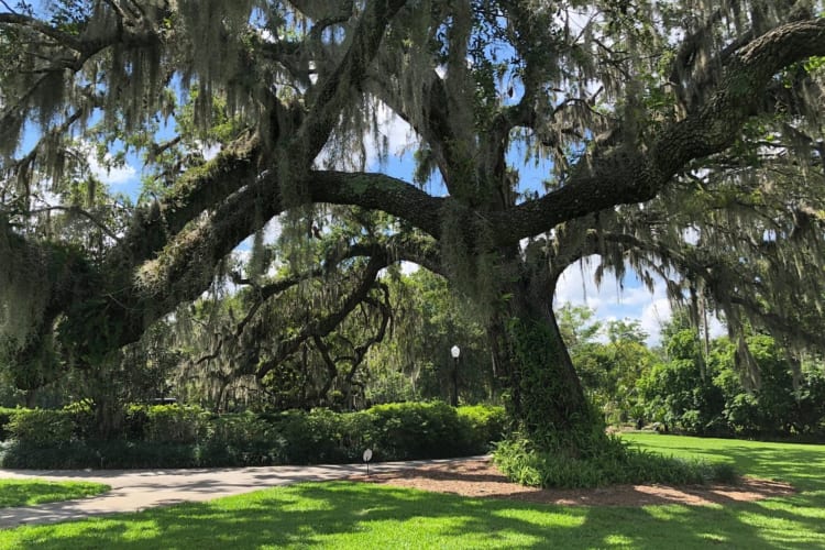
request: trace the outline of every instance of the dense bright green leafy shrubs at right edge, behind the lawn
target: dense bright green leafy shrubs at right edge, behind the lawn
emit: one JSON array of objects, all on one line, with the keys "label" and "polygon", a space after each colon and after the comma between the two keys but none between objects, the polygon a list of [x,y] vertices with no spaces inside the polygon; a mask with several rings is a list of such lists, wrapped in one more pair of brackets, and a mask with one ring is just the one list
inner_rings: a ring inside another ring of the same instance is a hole
[{"label": "dense bright green leafy shrubs at right edge, behind the lawn", "polygon": [[821,360],[801,363],[766,334],[746,337],[760,373],[758,387],[736,366],[738,345],[728,338],[703,342],[695,329],[667,332],[667,358],[639,381],[647,419],[698,435],[787,438],[822,433],[825,370]]}]

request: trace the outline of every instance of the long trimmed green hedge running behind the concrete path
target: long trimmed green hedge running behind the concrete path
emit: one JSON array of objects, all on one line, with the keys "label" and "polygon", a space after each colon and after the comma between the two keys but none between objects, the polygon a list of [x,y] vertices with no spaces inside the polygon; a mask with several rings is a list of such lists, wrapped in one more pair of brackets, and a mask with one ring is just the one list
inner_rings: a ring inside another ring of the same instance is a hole
[{"label": "long trimmed green hedge running behind the concrete path", "polygon": [[376,462],[439,459],[485,453],[505,426],[502,407],[455,409],[443,403],[220,416],[160,405],[129,407],[122,437],[96,441],[73,424],[88,421],[82,411],[8,410],[0,466],[24,469],[348,463],[360,461],[367,448]]}]

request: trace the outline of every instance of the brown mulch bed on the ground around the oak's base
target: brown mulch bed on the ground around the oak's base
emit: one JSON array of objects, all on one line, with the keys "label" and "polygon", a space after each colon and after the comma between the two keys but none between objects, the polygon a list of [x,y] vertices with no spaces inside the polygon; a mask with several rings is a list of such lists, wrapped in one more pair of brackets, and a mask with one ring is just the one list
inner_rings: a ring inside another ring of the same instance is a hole
[{"label": "brown mulch bed on the ground around the oak's base", "polygon": [[739,485],[614,485],[587,490],[541,490],[509,482],[491,461],[464,460],[391,473],[353,475],[350,481],[382,483],[462,496],[509,498],[540,504],[584,506],[708,505],[759,501],[794,493],[781,482],[744,477]]}]

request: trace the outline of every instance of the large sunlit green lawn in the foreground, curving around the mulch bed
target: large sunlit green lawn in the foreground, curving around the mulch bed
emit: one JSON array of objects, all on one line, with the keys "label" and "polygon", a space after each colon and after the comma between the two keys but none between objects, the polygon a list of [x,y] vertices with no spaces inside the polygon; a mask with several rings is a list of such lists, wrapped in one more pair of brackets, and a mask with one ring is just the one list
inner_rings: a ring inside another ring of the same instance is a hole
[{"label": "large sunlit green lawn in the foreground, curving around the mulch bed", "polygon": [[572,507],[345,482],[0,531],[0,548],[825,548],[825,446],[626,436],[799,494],[724,506]]}]

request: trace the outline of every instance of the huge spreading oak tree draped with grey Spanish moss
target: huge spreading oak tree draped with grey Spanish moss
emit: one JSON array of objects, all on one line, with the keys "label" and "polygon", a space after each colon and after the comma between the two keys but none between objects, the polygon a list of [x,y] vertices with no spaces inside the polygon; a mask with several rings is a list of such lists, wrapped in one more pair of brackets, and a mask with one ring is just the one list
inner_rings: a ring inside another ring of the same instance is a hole
[{"label": "huge spreading oak tree draped with grey Spanish moss", "polygon": [[[544,448],[598,440],[552,311],[582,258],[659,275],[734,332],[818,340],[818,2],[2,4],[0,327],[19,372],[112,361],[278,216],[296,243],[336,217],[364,227],[323,257],[279,258],[282,278],[246,277],[257,301],[237,337],[300,280],[360,275],[253,372],[377,304],[383,267],[417,262],[479,302],[514,418]],[[364,169],[386,112],[415,134],[415,180]],[[143,153],[145,200],[90,200],[88,143],[102,161]],[[221,151],[204,162],[208,143]],[[551,168],[528,189],[537,160]]]}]

